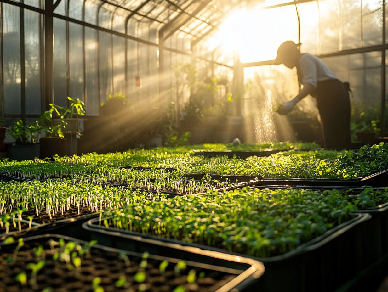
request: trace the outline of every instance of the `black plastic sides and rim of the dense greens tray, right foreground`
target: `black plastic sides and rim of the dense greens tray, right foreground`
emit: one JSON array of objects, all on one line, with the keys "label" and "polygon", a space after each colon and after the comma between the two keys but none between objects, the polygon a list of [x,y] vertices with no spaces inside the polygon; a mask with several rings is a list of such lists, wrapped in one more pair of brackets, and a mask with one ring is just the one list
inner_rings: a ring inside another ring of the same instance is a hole
[{"label": "black plastic sides and rim of the dense greens tray, right foreground", "polygon": [[[266,268],[252,291],[331,291],[339,287],[366,268],[362,237],[370,219],[369,214],[357,215],[282,256],[251,257],[262,261]],[[152,249],[154,254],[179,254],[179,257],[191,258],[193,254],[190,251],[194,247],[246,257],[206,245],[105,228],[98,226],[98,219],[84,223],[83,228],[104,245],[130,251]],[[196,257],[198,261],[204,260]]]}]

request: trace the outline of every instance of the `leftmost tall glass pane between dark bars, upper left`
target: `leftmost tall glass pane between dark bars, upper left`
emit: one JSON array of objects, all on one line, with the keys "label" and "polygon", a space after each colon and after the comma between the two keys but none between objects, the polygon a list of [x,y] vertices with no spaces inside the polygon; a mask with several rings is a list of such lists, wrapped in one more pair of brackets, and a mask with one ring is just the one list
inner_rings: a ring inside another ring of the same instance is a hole
[{"label": "leftmost tall glass pane between dark bars, upper left", "polygon": [[20,9],[3,3],[5,114],[21,113]]}]

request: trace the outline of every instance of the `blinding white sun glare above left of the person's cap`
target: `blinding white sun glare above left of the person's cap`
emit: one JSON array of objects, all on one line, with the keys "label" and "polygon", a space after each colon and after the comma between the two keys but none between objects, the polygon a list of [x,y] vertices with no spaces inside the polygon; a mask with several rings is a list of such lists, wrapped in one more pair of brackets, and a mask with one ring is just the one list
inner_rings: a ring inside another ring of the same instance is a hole
[{"label": "blinding white sun glare above left of the person's cap", "polygon": [[283,41],[298,40],[297,21],[290,19],[290,9],[294,8],[281,9],[280,14],[279,9],[258,7],[236,11],[225,19],[208,45],[220,47],[227,54],[239,52],[241,62],[273,60]]}]

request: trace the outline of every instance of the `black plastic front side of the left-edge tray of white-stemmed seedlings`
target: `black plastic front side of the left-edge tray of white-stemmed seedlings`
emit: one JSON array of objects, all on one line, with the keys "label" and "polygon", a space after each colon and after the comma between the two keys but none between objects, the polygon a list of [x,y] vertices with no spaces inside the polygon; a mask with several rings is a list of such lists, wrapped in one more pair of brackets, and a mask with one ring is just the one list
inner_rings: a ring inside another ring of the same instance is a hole
[{"label": "black plastic front side of the left-edge tray of white-stemmed seedlings", "polygon": [[75,237],[80,240],[90,241],[90,233],[85,232],[85,230],[82,229],[82,224],[91,219],[97,218],[98,216],[99,213],[92,213],[69,219],[56,220],[45,224],[34,223],[35,226],[33,226],[32,228],[23,229],[21,232],[15,231],[0,234],[0,242],[5,240],[5,238],[9,236],[12,236],[14,238],[24,238],[28,236],[41,235],[46,233],[56,233],[64,236]]}]

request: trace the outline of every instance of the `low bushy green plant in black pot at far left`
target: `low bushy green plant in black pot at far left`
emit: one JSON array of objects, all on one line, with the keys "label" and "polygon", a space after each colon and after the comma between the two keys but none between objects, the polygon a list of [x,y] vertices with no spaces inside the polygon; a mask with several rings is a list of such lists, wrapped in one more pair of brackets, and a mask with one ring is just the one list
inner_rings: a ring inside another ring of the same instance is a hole
[{"label": "low bushy green plant in black pot at far left", "polygon": [[36,136],[43,131],[43,127],[35,121],[33,124],[23,124],[22,120],[12,123],[7,136],[15,139],[15,143],[8,145],[9,159],[23,161],[33,160],[40,155],[40,144],[36,143]]}]

